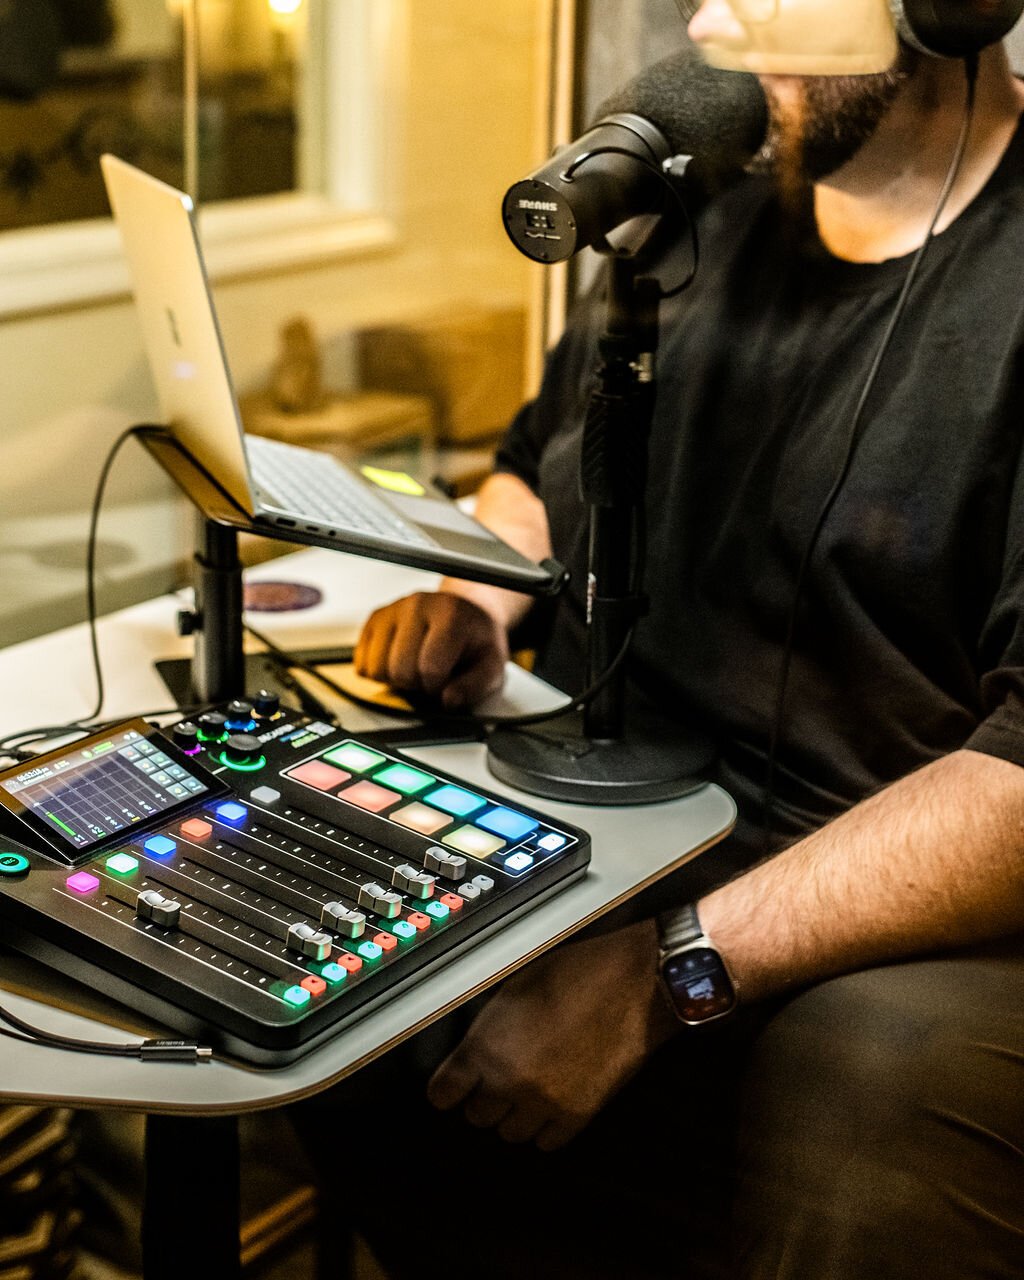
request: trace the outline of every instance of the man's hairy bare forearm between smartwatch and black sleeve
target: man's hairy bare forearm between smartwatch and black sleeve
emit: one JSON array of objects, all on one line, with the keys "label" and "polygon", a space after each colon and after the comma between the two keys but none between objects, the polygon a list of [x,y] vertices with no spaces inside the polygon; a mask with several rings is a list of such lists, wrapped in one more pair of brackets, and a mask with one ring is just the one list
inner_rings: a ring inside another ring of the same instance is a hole
[{"label": "man's hairy bare forearm between smartwatch and black sleeve", "polygon": [[744,1000],[1024,929],[1024,769],[956,751],[699,904]]}]

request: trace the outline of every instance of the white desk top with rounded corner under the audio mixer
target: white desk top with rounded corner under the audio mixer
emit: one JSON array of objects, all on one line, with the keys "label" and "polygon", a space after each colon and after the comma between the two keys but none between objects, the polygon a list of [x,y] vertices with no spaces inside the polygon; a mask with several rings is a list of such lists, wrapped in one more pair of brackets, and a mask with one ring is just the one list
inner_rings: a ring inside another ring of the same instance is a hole
[{"label": "white desk top with rounded corner under the audio mixer", "polygon": [[[323,603],[312,609],[259,614],[253,620],[283,648],[353,639],[372,604],[433,585],[430,575],[321,550],[303,550],[260,566],[251,576],[308,582],[324,591]],[[109,684],[105,716],[128,717],[169,705],[151,663],[157,657],[189,652],[191,643],[174,631],[175,612],[182,603],[165,596],[102,620],[100,652]],[[63,723],[88,713],[95,691],[86,628],[70,627],[0,652],[0,687],[5,690],[0,733]],[[539,681],[522,672],[511,673],[506,694],[509,707],[531,710],[550,698],[552,691]],[[379,723],[356,709],[346,716],[346,726],[355,732]],[[486,773],[479,744],[436,746],[411,754],[470,783],[516,795]],[[735,819],[731,799],[714,786],[682,800],[635,808],[532,803],[590,832],[593,859],[586,877],[298,1061],[273,1070],[223,1061],[143,1064],[5,1041],[0,1098],[196,1116],[237,1115],[308,1096],[625,902],[719,840]],[[72,983],[55,983],[47,970],[17,956],[0,954],[0,988],[4,1004],[14,1012],[61,1034],[122,1042],[125,1029],[151,1032],[119,1006]]]}]

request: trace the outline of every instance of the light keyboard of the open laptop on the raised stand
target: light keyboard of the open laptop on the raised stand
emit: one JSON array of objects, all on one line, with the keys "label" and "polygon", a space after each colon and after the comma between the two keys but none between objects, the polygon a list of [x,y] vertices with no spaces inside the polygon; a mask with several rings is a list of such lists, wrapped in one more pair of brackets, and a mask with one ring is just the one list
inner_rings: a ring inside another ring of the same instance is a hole
[{"label": "light keyboard of the open laptop on the raised stand", "polygon": [[436,547],[402,520],[328,453],[266,436],[246,435],[246,453],[260,499],[298,520],[370,534],[411,547]]}]

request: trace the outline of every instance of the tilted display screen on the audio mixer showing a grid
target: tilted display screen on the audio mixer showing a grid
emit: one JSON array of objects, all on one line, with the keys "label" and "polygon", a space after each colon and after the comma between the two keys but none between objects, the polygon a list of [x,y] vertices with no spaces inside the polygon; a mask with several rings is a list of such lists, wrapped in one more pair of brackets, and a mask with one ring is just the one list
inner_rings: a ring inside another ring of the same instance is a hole
[{"label": "tilted display screen on the audio mixer showing a grid", "polygon": [[79,854],[209,791],[160,742],[120,728],[6,774],[0,801]]}]

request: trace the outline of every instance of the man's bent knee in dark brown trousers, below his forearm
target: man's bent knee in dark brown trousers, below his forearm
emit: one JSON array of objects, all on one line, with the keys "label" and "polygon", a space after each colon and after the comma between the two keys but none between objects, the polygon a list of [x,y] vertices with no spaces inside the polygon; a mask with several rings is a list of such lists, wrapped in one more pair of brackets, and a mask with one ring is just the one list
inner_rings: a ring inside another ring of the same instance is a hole
[{"label": "man's bent knee in dark brown trousers, below his forearm", "polygon": [[[745,1087],[744,1274],[973,1274],[942,1270],[951,1235],[1019,1267],[1023,1084],[1016,955],[892,965],[792,1000]],[[1018,1274],[1000,1265],[978,1274]]]}]

